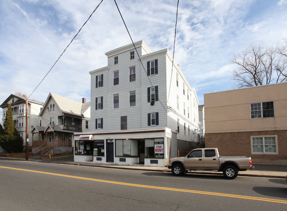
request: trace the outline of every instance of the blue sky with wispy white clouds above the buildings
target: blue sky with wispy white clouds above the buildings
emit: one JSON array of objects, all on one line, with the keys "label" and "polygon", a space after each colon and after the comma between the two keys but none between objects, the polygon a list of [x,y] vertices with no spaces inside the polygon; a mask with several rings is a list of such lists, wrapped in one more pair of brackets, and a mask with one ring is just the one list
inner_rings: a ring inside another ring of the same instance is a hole
[{"label": "blue sky with wispy white clouds above the buildings", "polygon": [[[100,0],[0,0],[0,102],[28,96]],[[118,0],[133,41],[173,52],[176,0]],[[174,59],[203,94],[236,88],[233,54],[250,43],[275,45],[287,37],[287,0],[179,0]],[[104,54],[131,40],[113,0],[104,0],[55,67],[30,96],[49,92],[90,101],[89,71],[107,66]]]}]

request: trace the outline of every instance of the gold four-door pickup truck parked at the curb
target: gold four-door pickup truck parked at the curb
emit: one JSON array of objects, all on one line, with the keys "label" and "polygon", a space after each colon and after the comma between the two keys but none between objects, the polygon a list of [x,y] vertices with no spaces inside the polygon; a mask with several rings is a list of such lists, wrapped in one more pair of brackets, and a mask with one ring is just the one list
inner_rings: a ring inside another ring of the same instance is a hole
[{"label": "gold four-door pickup truck parked at the curb", "polygon": [[185,157],[171,158],[167,167],[175,176],[188,171],[222,171],[226,179],[236,178],[238,171],[254,169],[250,157],[222,157],[217,148],[193,149]]}]

